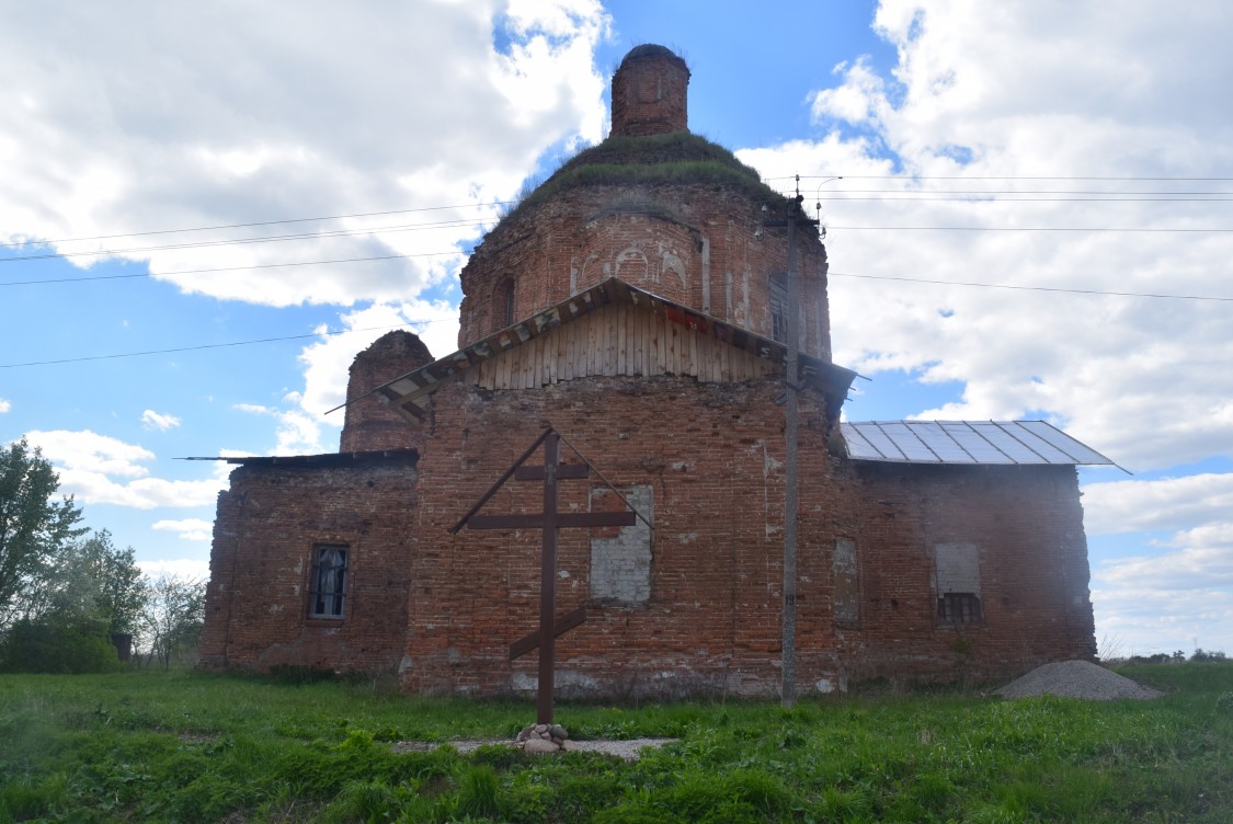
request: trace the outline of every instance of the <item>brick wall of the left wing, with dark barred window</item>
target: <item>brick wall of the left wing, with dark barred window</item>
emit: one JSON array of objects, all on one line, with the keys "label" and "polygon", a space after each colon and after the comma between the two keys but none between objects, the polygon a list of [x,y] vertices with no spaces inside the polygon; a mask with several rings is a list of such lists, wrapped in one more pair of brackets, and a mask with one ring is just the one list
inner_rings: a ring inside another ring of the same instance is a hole
[{"label": "brick wall of the left wing, with dark barred window", "polygon": [[[407,625],[414,512],[413,454],[233,471],[215,521],[202,665],[396,666]],[[340,620],[308,618],[317,544],[349,549]]]}]

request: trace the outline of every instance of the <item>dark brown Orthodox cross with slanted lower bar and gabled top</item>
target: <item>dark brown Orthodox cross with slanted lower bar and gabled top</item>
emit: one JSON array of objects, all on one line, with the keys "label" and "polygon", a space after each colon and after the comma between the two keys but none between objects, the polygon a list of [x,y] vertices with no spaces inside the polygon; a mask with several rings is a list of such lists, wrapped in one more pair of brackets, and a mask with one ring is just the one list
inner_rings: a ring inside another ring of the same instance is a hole
[{"label": "dark brown Orthodox cross with slanted lower bar and gabled top", "polygon": [[[544,445],[544,465],[524,466],[540,444]],[[581,458],[581,455],[580,455]],[[462,527],[471,529],[543,529],[544,548],[540,553],[540,620],[539,629],[509,645],[509,660],[513,661],[533,649],[539,648],[539,690],[536,696],[536,720],[540,724],[552,723],[552,687],[556,675],[556,637],[567,633],[587,619],[586,607],[578,607],[563,616],[556,616],[556,533],[559,529],[589,527],[633,527],[640,517],[633,508],[626,512],[559,512],[557,485],[563,480],[586,479],[591,476],[592,466],[583,459],[582,464],[561,463],[561,435],[549,427],[530,448],[523,453],[513,466],[492,485],[476,502],[471,511],[462,516],[451,534],[457,534]],[[598,475],[598,472],[597,472]],[[543,481],[544,511],[538,514],[481,516],[478,511],[513,477],[515,481]],[[603,476],[600,476],[603,479]],[[604,481],[613,488],[608,481]],[[616,490],[613,488],[615,492]],[[618,495],[620,495],[618,492]],[[624,497],[623,497],[624,500]],[[625,502],[629,506],[629,502]]]}]

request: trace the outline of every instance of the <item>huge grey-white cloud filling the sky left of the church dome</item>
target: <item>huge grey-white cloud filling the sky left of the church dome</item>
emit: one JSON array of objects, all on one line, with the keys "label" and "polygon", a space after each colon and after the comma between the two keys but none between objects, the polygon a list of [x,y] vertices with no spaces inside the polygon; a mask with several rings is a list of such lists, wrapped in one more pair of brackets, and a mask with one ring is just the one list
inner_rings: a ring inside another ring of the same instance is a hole
[{"label": "huge grey-white cloud filling the sky left of the church dome", "polygon": [[[123,254],[185,291],[254,303],[414,297],[455,276],[460,243],[543,152],[602,137],[591,57],[605,32],[598,0],[14,9],[0,72],[22,81],[0,89],[0,159],[21,163],[5,164],[0,226],[72,238],[432,207],[55,244],[145,248]],[[388,255],[412,257],[173,274]]]}]

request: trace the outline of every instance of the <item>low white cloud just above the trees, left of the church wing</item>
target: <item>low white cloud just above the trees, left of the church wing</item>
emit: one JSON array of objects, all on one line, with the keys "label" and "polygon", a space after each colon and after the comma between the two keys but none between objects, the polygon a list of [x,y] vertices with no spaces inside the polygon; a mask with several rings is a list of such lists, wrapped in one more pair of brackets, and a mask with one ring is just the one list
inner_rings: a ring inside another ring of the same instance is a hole
[{"label": "low white cloud just above the trees, left of the church wing", "polygon": [[79,503],[137,509],[213,506],[227,484],[226,464],[216,465],[212,476],[201,480],[149,477],[143,464],[153,461],[154,453],[90,431],[32,431],[26,438],[55,468],[60,492],[75,496]]}]

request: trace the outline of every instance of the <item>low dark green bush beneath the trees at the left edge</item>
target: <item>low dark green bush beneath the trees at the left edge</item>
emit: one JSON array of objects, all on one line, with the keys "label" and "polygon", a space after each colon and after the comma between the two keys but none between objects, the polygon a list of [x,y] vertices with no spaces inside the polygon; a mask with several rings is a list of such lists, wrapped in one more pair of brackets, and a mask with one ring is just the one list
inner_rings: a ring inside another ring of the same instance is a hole
[{"label": "low dark green bush beneath the trees at the left edge", "polygon": [[111,672],[120,657],[104,622],[14,624],[0,645],[5,672]]}]

